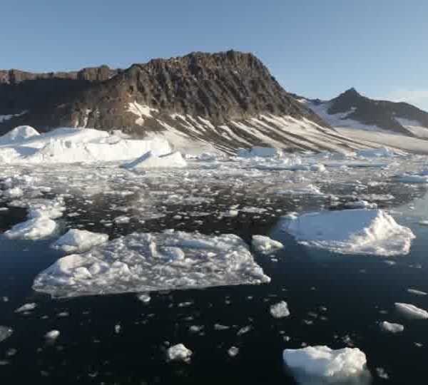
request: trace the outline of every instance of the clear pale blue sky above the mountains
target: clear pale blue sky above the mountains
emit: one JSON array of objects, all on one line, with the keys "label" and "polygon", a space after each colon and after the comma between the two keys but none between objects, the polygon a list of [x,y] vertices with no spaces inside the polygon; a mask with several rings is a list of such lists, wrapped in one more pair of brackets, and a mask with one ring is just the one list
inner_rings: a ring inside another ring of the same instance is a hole
[{"label": "clear pale blue sky above the mountains", "polygon": [[0,11],[0,68],[126,68],[233,48],[287,91],[332,98],[353,86],[428,110],[427,0],[21,0]]}]

